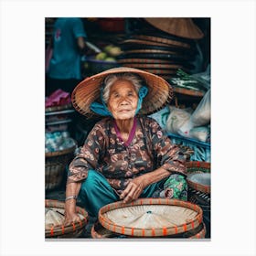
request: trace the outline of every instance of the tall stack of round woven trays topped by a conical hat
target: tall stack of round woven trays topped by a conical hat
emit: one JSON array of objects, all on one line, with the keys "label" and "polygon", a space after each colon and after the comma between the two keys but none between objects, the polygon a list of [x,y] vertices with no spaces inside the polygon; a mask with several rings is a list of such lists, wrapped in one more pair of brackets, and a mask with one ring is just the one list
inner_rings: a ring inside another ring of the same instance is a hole
[{"label": "tall stack of round woven trays topped by a conical hat", "polygon": [[[194,31],[195,34],[179,33],[179,28],[196,27],[191,19],[145,18],[140,22],[140,27],[143,28],[133,32],[121,44],[123,54],[118,58],[120,65],[144,69],[164,79],[175,77],[177,69],[188,73],[190,69],[194,69],[193,61],[197,54],[195,39],[202,38],[203,34],[198,29],[197,33]],[[165,29],[167,23],[173,27],[172,31],[168,27]]]}]

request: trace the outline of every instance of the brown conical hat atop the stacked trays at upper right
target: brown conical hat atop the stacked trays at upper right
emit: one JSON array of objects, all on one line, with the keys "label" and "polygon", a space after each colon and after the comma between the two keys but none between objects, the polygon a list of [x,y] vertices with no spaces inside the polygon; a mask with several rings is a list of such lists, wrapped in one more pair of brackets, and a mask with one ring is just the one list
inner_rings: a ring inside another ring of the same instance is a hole
[{"label": "brown conical hat atop the stacked trays at upper right", "polygon": [[149,17],[145,18],[145,20],[153,27],[177,37],[189,39],[201,39],[204,37],[203,32],[191,18]]}]

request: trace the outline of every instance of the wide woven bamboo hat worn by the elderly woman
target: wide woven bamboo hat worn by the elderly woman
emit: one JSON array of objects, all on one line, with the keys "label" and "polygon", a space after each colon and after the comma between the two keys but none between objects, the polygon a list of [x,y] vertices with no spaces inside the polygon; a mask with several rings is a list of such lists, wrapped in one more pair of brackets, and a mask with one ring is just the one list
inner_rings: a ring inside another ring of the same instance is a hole
[{"label": "wide woven bamboo hat worn by the elderly woman", "polygon": [[95,112],[91,111],[91,103],[94,101],[101,103],[101,85],[103,80],[108,75],[116,73],[134,73],[144,80],[144,85],[147,86],[148,92],[142,103],[142,108],[138,112],[139,114],[147,115],[157,112],[173,99],[173,88],[163,78],[141,69],[121,67],[108,69],[82,80],[71,95],[74,108],[87,117],[97,116]]}]

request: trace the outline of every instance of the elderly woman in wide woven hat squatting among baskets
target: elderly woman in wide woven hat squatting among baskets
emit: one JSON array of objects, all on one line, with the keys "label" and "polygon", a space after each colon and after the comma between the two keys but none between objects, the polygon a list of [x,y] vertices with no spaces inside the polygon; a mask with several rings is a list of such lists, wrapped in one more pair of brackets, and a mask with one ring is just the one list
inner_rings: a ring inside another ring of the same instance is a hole
[{"label": "elderly woman in wide woven hat squatting among baskets", "polygon": [[[138,197],[187,200],[186,157],[146,115],[172,98],[171,86],[140,69],[109,69],[80,82],[72,93],[78,112],[105,116],[69,165],[65,223],[79,220],[76,199],[91,216],[101,207]],[[174,193],[165,193],[164,187]]]}]

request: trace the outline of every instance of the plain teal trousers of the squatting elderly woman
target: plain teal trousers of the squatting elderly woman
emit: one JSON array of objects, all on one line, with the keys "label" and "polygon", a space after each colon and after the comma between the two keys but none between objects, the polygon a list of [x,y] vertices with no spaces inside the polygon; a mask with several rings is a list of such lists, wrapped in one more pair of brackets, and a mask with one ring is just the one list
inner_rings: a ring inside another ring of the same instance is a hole
[{"label": "plain teal trousers of the squatting elderly woman", "polygon": [[[152,197],[159,187],[163,187],[165,179],[146,187],[140,197]],[[101,173],[89,170],[88,177],[82,182],[79,199],[91,217],[98,218],[100,208],[119,201],[119,195],[112,189]]]}]

